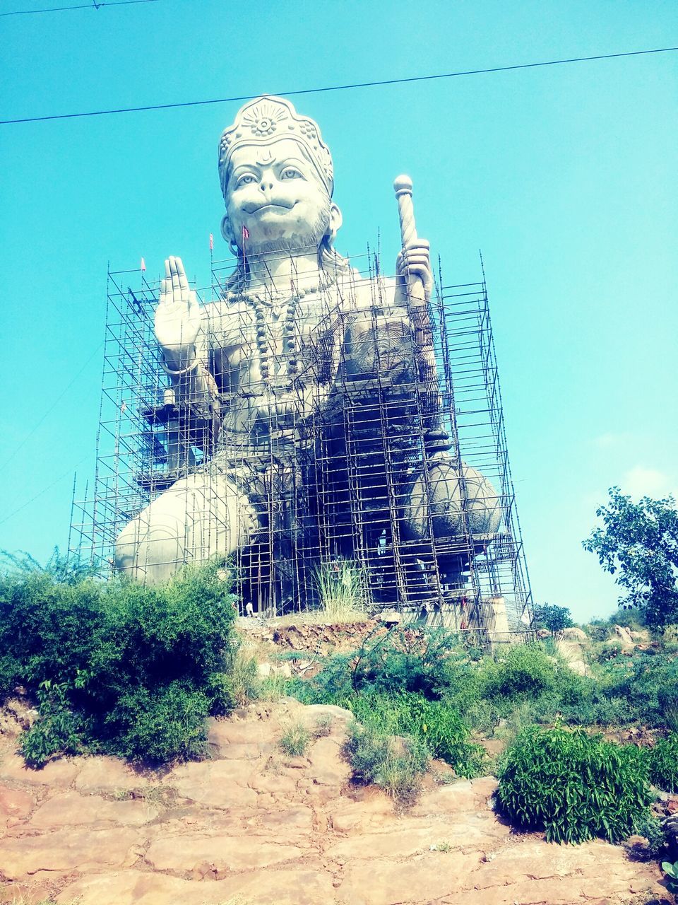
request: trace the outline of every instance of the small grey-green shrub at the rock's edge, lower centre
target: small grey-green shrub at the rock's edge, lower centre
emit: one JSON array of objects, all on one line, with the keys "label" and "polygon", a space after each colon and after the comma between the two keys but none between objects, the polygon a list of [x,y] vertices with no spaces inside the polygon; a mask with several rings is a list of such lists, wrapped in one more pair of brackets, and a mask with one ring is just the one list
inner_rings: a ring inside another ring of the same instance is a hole
[{"label": "small grey-green shrub at the rock's edge, lower centre", "polygon": [[416,738],[393,738],[375,726],[353,723],[345,751],[353,776],[381,786],[399,806],[414,800],[428,770],[428,751]]}]

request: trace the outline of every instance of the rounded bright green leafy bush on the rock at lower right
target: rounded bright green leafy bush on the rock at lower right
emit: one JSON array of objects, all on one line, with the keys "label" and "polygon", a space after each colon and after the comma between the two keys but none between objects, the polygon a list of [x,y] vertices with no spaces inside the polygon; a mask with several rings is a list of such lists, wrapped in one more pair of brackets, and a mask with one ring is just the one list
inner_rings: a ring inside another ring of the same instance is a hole
[{"label": "rounded bright green leafy bush on the rock at lower right", "polygon": [[504,755],[497,796],[514,824],[549,842],[619,842],[651,801],[647,759],[582,729],[532,727]]}]

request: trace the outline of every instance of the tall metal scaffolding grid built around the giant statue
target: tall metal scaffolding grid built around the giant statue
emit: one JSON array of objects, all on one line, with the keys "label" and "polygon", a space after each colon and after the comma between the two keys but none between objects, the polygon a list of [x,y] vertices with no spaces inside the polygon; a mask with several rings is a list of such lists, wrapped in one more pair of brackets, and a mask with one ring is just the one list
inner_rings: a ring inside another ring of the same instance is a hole
[{"label": "tall metal scaffolding grid built around the giant statue", "polygon": [[[213,357],[211,405],[186,404],[161,367],[154,336],[159,281],[138,270],[108,272],[96,473],[81,499],[74,494],[70,553],[106,571],[120,531],[164,491],[184,486],[176,481],[193,476],[202,482],[201,499],[216,500],[228,479],[256,525],[234,554],[243,609],[313,608],[318,567],[351,560],[367,577],[375,608],[484,631],[500,603],[511,631],[520,631],[531,622],[532,595],[485,276],[450,285],[438,269],[428,306],[432,347],[422,370],[414,346],[402,364],[403,337],[413,342],[415,331],[408,326],[396,336],[392,319],[381,327],[379,348],[373,342],[361,348],[357,335],[346,340],[352,300],[361,293],[371,293],[372,336],[388,309],[377,257],[368,252],[351,263],[331,288],[319,290],[323,342],[336,338],[333,348],[314,348],[299,334],[297,295],[280,315],[287,333],[278,360],[266,351],[266,312],[232,288],[234,262],[212,262],[212,284],[198,298],[217,312],[228,298],[219,329],[249,336],[257,330],[268,386],[263,418],[260,399],[259,414],[247,416],[252,387],[231,386]],[[359,377],[346,358],[349,346],[353,362],[368,363]],[[324,373],[327,360],[334,360],[331,376]],[[496,513],[491,533],[476,526],[483,477],[494,488],[483,500]],[[446,533],[440,525],[447,524],[450,494],[457,519]],[[417,514],[417,530],[405,511]],[[206,557],[217,543],[214,519],[196,509],[187,522],[191,555],[184,558]]]}]

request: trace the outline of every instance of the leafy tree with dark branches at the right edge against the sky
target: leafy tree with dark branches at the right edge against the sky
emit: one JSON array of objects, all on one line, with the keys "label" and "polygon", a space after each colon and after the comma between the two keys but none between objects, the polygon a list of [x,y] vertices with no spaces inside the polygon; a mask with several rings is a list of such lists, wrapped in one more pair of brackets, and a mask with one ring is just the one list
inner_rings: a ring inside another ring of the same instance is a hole
[{"label": "leafy tree with dark branches at the right edge against the sky", "polygon": [[607,506],[596,515],[603,526],[593,529],[582,546],[617,575],[617,585],[627,592],[619,605],[643,611],[651,628],[678,622],[678,510],[673,497],[643,497],[634,503],[612,487]]}]

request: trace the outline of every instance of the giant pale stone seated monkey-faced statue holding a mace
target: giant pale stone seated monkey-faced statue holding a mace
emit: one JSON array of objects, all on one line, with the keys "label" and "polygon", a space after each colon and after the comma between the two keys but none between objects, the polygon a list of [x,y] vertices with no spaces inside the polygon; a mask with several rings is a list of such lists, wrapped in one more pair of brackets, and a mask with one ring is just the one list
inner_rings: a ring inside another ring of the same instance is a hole
[{"label": "giant pale stone seated monkey-faced statue holding a mace", "polygon": [[334,250],[332,157],[289,101],[242,107],[219,174],[237,267],[201,305],[169,257],[155,311],[160,367],[202,463],[122,530],[118,569],[158,582],[235,554],[260,607],[312,602],[309,570],[333,557],[359,560],[385,604],[463,585],[500,508],[443,426],[428,242],[407,178],[387,279]]}]

